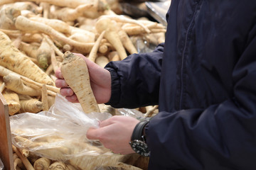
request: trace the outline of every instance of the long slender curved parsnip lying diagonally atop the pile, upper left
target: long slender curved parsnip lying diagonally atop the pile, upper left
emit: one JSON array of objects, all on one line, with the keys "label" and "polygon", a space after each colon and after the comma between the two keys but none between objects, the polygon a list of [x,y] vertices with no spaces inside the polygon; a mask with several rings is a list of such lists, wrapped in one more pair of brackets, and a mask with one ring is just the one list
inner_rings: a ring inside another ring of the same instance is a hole
[{"label": "long slender curved parsnip lying diagonally atop the pile, upper left", "polygon": [[59,33],[57,30],[54,30],[50,26],[47,26],[46,24],[39,23],[36,21],[31,21],[30,19],[24,16],[17,17],[15,26],[19,30],[24,30],[28,32],[31,31],[32,33],[35,31],[39,31],[47,35],[50,35],[53,38],[57,38],[62,42],[65,42],[69,45],[73,45],[76,50],[82,53],[90,52],[90,50],[92,49],[92,46],[94,45],[94,43],[92,42],[82,43],[82,42],[77,42],[75,40],[71,40],[70,38],[65,37],[65,35]]}]

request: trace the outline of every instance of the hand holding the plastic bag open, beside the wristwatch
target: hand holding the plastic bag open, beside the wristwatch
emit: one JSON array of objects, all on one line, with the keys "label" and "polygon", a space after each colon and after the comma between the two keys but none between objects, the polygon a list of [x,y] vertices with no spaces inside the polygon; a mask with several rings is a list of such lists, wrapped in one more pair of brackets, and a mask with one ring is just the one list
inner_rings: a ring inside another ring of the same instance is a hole
[{"label": "hand holding the plastic bag open, beside the wristwatch", "polygon": [[90,128],[87,131],[87,138],[89,140],[100,140],[104,147],[111,149],[116,154],[131,154],[134,151],[129,142],[137,123],[139,123],[139,120],[136,118],[115,115],[100,122],[100,128]]}]

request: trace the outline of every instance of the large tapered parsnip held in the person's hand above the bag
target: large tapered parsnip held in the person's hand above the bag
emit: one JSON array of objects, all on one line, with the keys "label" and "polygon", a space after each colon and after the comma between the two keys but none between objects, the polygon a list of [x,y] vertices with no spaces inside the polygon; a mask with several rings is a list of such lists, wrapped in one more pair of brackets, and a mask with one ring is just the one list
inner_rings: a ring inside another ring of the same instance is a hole
[{"label": "large tapered parsnip held in the person's hand above the bag", "polygon": [[65,52],[60,70],[68,86],[78,97],[83,111],[85,113],[100,112],[90,86],[90,76],[85,60],[72,52]]}]

